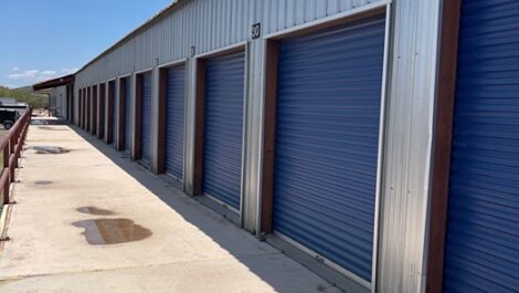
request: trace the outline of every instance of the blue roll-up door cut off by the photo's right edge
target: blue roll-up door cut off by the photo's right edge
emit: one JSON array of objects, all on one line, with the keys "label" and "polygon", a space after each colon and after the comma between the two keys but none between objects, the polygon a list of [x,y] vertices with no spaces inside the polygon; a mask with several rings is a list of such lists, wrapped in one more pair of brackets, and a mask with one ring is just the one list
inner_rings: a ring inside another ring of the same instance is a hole
[{"label": "blue roll-up door cut off by the photo's right edge", "polygon": [[519,1],[463,1],[445,292],[519,292]]}]

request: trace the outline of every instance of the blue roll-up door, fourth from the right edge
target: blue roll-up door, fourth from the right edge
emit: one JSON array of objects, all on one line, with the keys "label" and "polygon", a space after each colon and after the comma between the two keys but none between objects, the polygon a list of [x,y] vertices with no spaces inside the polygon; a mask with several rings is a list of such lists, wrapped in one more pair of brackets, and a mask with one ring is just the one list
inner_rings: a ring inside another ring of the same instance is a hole
[{"label": "blue roll-up door, fourth from the right edge", "polygon": [[166,114],[166,171],[183,178],[186,67],[168,70]]}]

